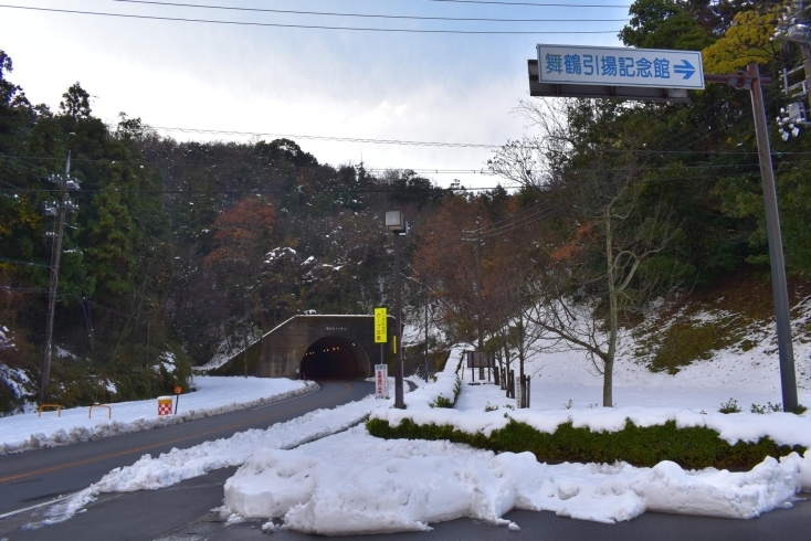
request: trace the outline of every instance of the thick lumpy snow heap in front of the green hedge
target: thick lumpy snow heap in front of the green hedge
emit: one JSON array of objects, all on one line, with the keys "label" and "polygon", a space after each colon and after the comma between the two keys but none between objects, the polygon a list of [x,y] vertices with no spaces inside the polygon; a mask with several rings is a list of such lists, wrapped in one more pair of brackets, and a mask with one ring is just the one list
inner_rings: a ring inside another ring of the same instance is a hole
[{"label": "thick lumpy snow heap in front of the green hedge", "polygon": [[260,449],[225,482],[225,506],[243,518],[283,519],[316,534],[430,530],[470,517],[509,524],[512,509],[617,522],[646,510],[754,518],[791,506],[811,453],[767,458],[748,473],[538,463],[530,453],[450,442],[379,439],[358,426],[295,450]]}]

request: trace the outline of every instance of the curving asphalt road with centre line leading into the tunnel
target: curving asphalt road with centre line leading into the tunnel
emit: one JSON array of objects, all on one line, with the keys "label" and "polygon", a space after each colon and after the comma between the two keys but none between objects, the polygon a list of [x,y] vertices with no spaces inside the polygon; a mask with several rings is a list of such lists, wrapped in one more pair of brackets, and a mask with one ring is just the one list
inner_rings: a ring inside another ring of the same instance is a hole
[{"label": "curving asphalt road with centre line leading into the tunnel", "polygon": [[324,382],[318,392],[286,402],[95,442],[0,456],[0,515],[82,490],[109,470],[133,464],[145,454],[191,447],[249,428],[267,428],[371,392],[371,383]]}]

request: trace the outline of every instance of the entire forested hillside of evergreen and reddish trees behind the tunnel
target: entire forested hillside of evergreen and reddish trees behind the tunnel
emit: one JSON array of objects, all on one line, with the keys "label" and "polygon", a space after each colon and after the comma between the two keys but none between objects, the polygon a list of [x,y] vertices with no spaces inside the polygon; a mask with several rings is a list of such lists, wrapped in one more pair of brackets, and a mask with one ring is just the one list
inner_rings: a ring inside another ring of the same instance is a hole
[{"label": "entire forested hillside of evergreen and reddish trees behind the tunnel", "polygon": [[[702,51],[705,73],[757,62],[775,79],[765,91],[773,120],[808,99],[780,84],[801,65],[799,46],[771,40],[780,9],[639,0],[620,38]],[[0,369],[29,390],[54,229],[43,208],[69,151],[81,184],[70,192],[78,210],[55,318],[52,393],[63,404],[164,392],[186,384],[191,364],[293,315],[389,303],[387,209],[412,224],[408,306],[428,300],[449,340],[481,340],[507,362],[524,358],[530,328],[583,349],[605,374],[607,405],[621,327],[689,291],[707,297],[730,275],[768,279],[749,93],[727,85],[692,92],[688,104],[524,102],[526,137],[489,161],[494,184],[512,190],[473,192],[412,171],[319,163],[287,139],[177,141],[126,115],[107,126],[78,83],[52,110],[29,103],[0,59]],[[811,132],[772,123],[771,145],[788,272],[802,282]],[[1,386],[0,399],[7,411],[17,400]]]}]

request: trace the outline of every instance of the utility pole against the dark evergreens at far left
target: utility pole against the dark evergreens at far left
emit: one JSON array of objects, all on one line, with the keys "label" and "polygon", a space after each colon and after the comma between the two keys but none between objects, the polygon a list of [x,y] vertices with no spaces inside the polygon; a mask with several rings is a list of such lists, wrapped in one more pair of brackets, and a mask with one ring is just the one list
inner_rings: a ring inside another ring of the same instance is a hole
[{"label": "utility pole against the dark evergreens at far left", "polygon": [[42,359],[42,379],[40,381],[40,404],[48,401],[48,380],[51,374],[51,350],[53,349],[53,317],[56,310],[56,286],[60,276],[60,259],[62,256],[62,237],[65,232],[65,214],[69,211],[75,211],[78,206],[74,205],[67,199],[67,190],[77,190],[78,181],[71,178],[71,152],[67,151],[67,161],[65,162],[65,173],[63,176],[52,174],[49,179],[51,182],[60,187],[61,202],[59,209],[45,208],[46,214],[56,211],[56,232],[51,232],[55,236],[51,247],[51,286],[48,293],[48,320],[45,321],[45,351]]}]

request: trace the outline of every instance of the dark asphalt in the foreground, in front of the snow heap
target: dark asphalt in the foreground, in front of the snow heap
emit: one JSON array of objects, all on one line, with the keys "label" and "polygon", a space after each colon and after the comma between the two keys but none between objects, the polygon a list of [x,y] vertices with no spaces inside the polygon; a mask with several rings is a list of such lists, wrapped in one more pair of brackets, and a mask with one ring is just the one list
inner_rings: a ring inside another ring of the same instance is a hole
[{"label": "dark asphalt in the foreground, in front of the snow heap", "polygon": [[[38,530],[20,530],[39,517],[15,517],[0,522],[0,540],[9,541],[315,541],[296,532],[262,533],[262,522],[225,526],[225,517],[211,509],[222,505],[223,485],[236,468],[212,471],[157,491],[103,495],[87,512]],[[168,512],[167,512],[168,511]],[[167,520],[170,517],[171,520]],[[645,513],[617,524],[557,517],[551,512],[513,511],[505,518],[520,526],[508,531],[471,519],[432,524],[430,532],[347,535],[340,541],[808,541],[811,502],[779,509],[752,520]],[[6,528],[3,528],[6,526]]]}]

